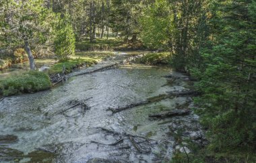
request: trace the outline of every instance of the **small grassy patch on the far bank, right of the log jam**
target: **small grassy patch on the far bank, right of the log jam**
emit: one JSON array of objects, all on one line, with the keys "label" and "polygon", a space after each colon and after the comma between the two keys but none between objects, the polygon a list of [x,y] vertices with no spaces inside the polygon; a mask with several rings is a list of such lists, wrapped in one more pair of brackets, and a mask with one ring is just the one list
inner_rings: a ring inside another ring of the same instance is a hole
[{"label": "small grassy patch on the far bank, right of the log jam", "polygon": [[143,64],[169,64],[170,53],[160,52],[160,53],[150,53],[141,58],[141,63]]}]

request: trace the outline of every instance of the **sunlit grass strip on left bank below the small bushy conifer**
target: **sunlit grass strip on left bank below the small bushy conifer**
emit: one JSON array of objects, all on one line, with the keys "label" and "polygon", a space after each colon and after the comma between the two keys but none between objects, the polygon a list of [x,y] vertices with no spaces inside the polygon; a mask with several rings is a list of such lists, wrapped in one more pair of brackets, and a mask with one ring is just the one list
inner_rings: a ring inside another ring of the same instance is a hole
[{"label": "sunlit grass strip on left bank below the small bushy conifer", "polygon": [[91,66],[92,64],[97,64],[97,60],[93,58],[88,57],[79,57],[79,58],[71,58],[66,61],[57,62],[56,64],[53,64],[53,66],[50,67],[48,70],[48,74],[57,74],[61,73],[63,70],[63,65],[65,65],[65,72],[69,73],[74,68],[77,68],[79,66],[82,66],[86,64],[86,66]]}]

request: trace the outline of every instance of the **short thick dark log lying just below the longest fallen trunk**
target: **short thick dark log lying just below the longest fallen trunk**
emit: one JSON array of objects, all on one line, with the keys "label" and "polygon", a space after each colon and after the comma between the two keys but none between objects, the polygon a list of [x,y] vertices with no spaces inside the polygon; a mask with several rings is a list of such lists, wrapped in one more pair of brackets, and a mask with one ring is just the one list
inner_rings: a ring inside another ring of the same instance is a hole
[{"label": "short thick dark log lying just below the longest fallen trunk", "polygon": [[174,109],[173,111],[168,111],[165,113],[151,114],[148,117],[154,118],[165,118],[165,117],[173,117],[173,116],[181,116],[181,115],[189,115],[191,111],[189,109]]}]

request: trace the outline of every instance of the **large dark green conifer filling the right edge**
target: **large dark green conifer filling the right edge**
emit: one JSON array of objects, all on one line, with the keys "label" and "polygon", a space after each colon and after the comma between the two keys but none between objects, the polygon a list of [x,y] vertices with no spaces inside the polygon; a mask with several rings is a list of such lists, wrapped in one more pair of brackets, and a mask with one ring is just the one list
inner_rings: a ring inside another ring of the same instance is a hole
[{"label": "large dark green conifer filling the right edge", "polygon": [[256,3],[212,3],[212,48],[203,51],[205,69],[197,71],[203,96],[203,123],[212,149],[252,150],[256,142]]}]

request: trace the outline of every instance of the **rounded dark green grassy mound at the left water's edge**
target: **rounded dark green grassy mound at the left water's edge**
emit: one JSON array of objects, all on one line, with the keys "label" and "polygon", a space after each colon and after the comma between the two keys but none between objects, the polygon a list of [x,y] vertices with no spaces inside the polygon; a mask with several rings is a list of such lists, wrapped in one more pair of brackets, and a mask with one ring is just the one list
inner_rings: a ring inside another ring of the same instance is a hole
[{"label": "rounded dark green grassy mound at the left water's edge", "polygon": [[30,71],[0,80],[0,95],[34,93],[51,87],[51,80],[44,72]]}]

